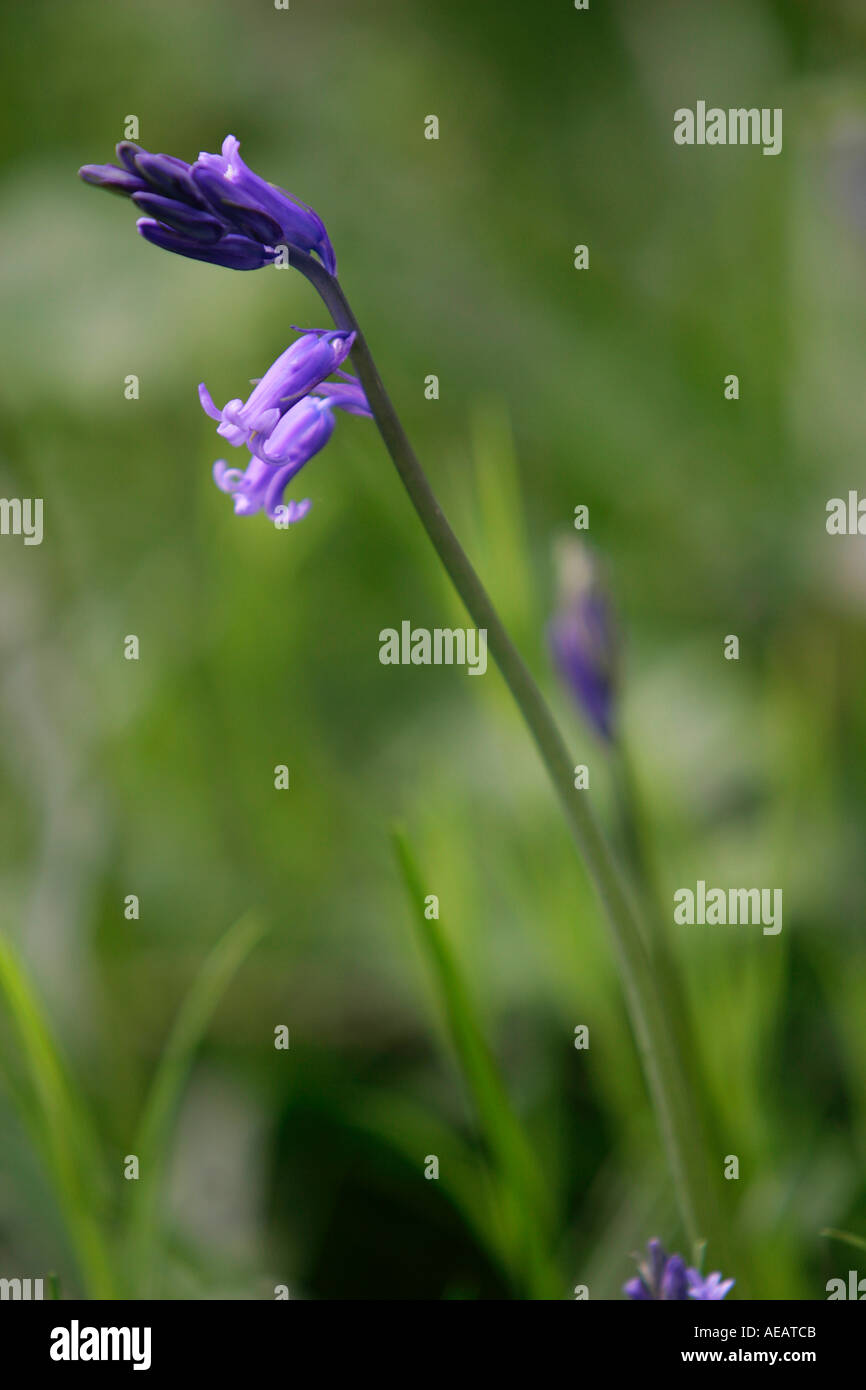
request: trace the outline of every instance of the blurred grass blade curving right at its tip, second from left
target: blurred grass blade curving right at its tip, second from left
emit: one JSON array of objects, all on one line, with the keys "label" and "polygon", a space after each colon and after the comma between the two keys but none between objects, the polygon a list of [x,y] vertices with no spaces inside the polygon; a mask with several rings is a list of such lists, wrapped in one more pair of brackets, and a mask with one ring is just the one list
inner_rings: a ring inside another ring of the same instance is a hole
[{"label": "blurred grass blade curving right at its tip, second from left", "polygon": [[181,1093],[220,999],[264,933],[263,923],[247,913],[221,937],[178,1011],[150,1083],[132,1148],[139,1159],[139,1179],[132,1184],[126,1247],[129,1277],[140,1290],[140,1297],[147,1297],[150,1291],[160,1180]]}]

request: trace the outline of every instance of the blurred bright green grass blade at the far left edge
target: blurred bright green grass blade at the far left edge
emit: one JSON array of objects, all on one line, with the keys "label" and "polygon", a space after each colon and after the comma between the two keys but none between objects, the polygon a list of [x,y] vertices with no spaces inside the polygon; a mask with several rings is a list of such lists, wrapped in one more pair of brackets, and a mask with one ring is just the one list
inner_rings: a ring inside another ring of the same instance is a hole
[{"label": "blurred bright green grass blade at the far left edge", "polygon": [[115,1297],[111,1255],[95,1209],[104,1191],[103,1161],[83,1097],[74,1088],[47,1019],[11,942],[0,934],[0,998],[26,1061],[31,1091],[25,1120],[43,1155],[85,1289]]}]

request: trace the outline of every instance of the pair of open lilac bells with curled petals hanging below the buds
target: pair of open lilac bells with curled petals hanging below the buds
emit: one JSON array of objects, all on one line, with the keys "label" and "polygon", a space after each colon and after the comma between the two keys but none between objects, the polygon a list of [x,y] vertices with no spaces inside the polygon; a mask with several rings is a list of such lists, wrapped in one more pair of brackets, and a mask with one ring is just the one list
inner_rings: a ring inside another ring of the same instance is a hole
[{"label": "pair of open lilac bells with curled petals hanging below the buds", "polygon": [[[204,413],[218,421],[217,434],[250,453],[246,468],[229,468],[225,459],[214,464],[214,481],[231,493],[238,516],[264,512],[271,521],[291,524],[310,510],[309,498],[284,503],[282,496],[295,474],[331,438],[334,407],[370,416],[359,381],[341,370],[353,342],[354,334],[339,329],[302,334],[246,400],[229,400],[221,410],[204,382],[199,386]],[[332,373],[341,379],[327,381]]]}]

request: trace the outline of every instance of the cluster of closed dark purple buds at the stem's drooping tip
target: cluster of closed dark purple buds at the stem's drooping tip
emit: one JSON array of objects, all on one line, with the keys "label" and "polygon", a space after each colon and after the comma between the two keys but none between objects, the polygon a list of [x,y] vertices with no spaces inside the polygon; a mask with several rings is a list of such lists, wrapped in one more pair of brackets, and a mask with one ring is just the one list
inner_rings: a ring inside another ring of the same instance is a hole
[{"label": "cluster of closed dark purple buds at the stem's drooping tip", "polygon": [[227,135],[221,154],[202,152],[186,164],[121,140],[120,164],[85,164],[79,174],[85,183],[131,197],[145,214],[138,221],[145,240],[178,256],[259,270],[288,246],[316,253],[334,275],[336,257],[318,214],[253,174],[239,149]]}]

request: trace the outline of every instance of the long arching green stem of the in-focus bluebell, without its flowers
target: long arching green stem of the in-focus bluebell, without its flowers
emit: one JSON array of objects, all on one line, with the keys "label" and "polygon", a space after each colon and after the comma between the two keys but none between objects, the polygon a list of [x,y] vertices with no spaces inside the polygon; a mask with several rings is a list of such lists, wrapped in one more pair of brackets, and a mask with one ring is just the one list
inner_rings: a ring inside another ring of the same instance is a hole
[{"label": "long arching green stem of the in-focus bluebell, without its flowers", "polygon": [[339,282],[303,252],[291,250],[289,260],[318,291],[336,327],[356,334],[352,360],[388,453],[473,621],[478,628],[487,630],[488,651],[535,739],[571,835],[595,881],[610,923],[628,1013],[674,1177],[683,1225],[694,1244],[706,1238],[712,1226],[695,1106],[689,1101],[688,1083],[623,876],[587,794],[574,790],[574,760],[553,716],[434,496]]}]

